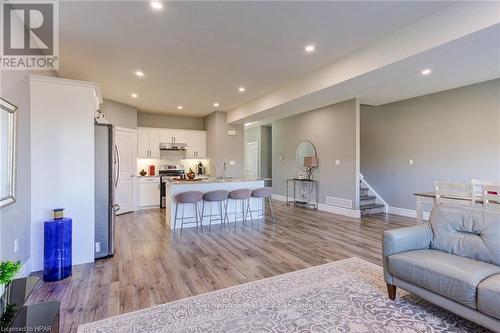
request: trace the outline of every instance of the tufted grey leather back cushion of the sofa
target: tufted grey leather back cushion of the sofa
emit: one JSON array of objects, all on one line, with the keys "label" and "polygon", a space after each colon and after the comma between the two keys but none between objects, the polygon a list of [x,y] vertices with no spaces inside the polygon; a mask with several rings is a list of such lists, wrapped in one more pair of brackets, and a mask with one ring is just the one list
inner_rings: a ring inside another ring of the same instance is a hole
[{"label": "tufted grey leather back cushion of the sofa", "polygon": [[437,205],[429,220],[431,249],[500,265],[500,211]]}]

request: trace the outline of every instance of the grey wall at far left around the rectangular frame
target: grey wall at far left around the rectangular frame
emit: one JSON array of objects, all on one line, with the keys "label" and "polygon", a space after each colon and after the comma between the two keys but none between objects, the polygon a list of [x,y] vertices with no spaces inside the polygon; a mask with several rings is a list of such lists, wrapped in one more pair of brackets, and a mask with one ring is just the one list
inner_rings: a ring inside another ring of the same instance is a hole
[{"label": "grey wall at far left around the rectangular frame", "polygon": [[[23,263],[29,259],[31,251],[29,74],[55,76],[51,71],[0,71],[0,97],[18,107],[16,202],[0,208],[0,259]],[[14,252],[16,239],[19,249]]]}]

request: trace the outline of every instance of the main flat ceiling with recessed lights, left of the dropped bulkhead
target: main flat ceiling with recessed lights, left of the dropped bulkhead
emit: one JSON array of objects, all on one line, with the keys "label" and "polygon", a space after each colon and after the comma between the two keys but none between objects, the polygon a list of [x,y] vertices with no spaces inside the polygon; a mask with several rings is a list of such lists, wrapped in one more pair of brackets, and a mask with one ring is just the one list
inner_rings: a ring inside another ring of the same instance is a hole
[{"label": "main flat ceiling with recessed lights, left of the dropped bulkhead", "polygon": [[[145,1],[61,2],[59,75],[98,82],[104,98],[143,111],[204,116],[215,101],[233,110],[451,3],[164,5],[156,12]],[[309,43],[317,52],[307,55]],[[137,69],[146,76],[135,77]]]}]

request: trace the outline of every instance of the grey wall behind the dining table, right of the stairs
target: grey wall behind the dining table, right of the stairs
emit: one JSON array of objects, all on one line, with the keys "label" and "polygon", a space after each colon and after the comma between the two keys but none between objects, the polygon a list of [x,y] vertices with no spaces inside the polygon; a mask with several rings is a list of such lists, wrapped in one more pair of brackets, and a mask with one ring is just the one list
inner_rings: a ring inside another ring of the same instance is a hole
[{"label": "grey wall behind the dining table, right of the stairs", "polygon": [[500,80],[361,110],[361,173],[390,206],[435,180],[500,181]]}]

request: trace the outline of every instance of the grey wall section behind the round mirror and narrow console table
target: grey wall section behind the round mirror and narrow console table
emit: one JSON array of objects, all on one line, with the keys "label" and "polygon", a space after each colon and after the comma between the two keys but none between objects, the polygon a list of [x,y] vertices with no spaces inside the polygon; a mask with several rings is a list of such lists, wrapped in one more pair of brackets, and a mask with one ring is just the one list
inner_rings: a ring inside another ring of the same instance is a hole
[{"label": "grey wall section behind the round mirror and narrow console table", "polygon": [[[333,196],[352,200],[353,208],[357,208],[357,112],[359,104],[353,99],[274,121],[273,193],[286,195],[286,179],[297,175],[297,146],[309,140],[318,154],[314,177],[320,181],[320,203],[325,203],[326,196]],[[338,166],[336,159],[341,161]]]}]

